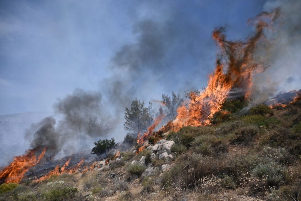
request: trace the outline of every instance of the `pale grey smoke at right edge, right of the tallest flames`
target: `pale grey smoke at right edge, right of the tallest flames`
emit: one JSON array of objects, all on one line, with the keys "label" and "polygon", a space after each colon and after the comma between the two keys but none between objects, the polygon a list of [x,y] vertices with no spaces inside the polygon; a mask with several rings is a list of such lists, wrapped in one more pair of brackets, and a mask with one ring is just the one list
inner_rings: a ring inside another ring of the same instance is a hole
[{"label": "pale grey smoke at right edge, right of the tallest flames", "polygon": [[301,88],[301,1],[268,1],[264,9],[276,7],[281,13],[279,23],[266,33],[269,43],[259,46],[255,57],[268,68],[253,78],[253,104],[264,102],[279,91]]}]

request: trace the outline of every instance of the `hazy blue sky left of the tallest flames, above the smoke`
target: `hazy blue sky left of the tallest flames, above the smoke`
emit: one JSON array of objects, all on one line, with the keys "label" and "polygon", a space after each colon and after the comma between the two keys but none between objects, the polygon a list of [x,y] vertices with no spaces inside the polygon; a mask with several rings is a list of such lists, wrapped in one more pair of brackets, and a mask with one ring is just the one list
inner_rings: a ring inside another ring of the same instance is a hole
[{"label": "hazy blue sky left of the tallest flames, above the smoke", "polygon": [[[183,94],[200,89],[215,67],[213,29],[226,25],[229,38],[243,39],[253,29],[247,20],[262,12],[265,4],[264,0],[0,1],[0,115],[52,111],[57,98],[76,88],[100,91],[110,101],[112,79],[127,85],[123,93],[136,90],[129,99],[144,101],[160,99],[172,90]],[[148,35],[153,39],[146,42],[151,50],[141,45]],[[153,41],[158,48],[152,47]],[[142,52],[143,59],[133,56],[145,67],[137,67],[143,71],[138,76],[130,76],[135,68],[114,67],[123,47],[133,48],[130,54]]]}]

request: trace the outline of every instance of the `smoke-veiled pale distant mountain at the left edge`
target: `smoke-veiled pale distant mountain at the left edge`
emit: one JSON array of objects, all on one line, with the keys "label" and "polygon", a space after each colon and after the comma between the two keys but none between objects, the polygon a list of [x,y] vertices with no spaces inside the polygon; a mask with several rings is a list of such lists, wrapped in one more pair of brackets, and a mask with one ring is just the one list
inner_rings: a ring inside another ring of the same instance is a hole
[{"label": "smoke-veiled pale distant mountain at the left edge", "polygon": [[13,156],[28,149],[28,141],[24,139],[25,129],[48,115],[46,112],[0,115],[0,166],[7,165]]}]

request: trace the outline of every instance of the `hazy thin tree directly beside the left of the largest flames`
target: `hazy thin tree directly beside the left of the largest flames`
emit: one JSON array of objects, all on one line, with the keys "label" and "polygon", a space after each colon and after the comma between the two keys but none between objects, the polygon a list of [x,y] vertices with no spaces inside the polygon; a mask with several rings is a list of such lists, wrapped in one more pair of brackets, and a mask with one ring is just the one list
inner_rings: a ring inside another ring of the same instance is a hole
[{"label": "hazy thin tree directly beside the left of the largest flames", "polygon": [[173,119],[177,115],[177,109],[184,101],[183,98],[181,98],[180,94],[176,95],[174,92],[172,92],[172,97],[163,94],[162,95],[162,101],[165,102],[165,113],[166,117],[168,119]]}]

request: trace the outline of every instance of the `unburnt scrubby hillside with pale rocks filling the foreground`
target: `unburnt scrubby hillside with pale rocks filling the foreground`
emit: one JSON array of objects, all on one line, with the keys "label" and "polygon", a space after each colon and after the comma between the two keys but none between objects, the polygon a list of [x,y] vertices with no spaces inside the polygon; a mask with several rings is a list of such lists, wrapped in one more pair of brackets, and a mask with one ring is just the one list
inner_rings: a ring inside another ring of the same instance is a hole
[{"label": "unburnt scrubby hillside with pale rocks filling the foreground", "polygon": [[300,99],[155,136],[91,171],[2,184],[0,200],[301,199]]}]

